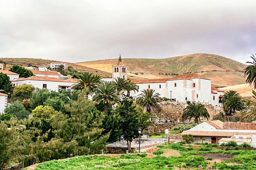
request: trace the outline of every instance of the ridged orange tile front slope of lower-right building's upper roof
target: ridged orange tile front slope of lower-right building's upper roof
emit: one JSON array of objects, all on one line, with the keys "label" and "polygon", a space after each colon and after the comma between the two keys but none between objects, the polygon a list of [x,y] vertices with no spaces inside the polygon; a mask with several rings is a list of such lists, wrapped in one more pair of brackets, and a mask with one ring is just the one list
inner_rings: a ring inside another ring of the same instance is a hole
[{"label": "ridged orange tile front slope of lower-right building's upper roof", "polygon": [[222,129],[256,130],[256,123],[223,122]]}]

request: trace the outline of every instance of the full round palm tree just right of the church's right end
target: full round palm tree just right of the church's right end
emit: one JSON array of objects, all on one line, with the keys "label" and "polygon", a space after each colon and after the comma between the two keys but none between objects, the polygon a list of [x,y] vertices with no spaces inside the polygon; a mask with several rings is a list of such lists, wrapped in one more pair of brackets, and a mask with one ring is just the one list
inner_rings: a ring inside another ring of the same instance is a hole
[{"label": "full round palm tree just right of the church's right end", "polygon": [[222,103],[224,109],[229,114],[235,113],[235,111],[241,111],[244,107],[244,103],[241,100],[241,96],[237,91],[229,90],[225,91],[222,97]]}]

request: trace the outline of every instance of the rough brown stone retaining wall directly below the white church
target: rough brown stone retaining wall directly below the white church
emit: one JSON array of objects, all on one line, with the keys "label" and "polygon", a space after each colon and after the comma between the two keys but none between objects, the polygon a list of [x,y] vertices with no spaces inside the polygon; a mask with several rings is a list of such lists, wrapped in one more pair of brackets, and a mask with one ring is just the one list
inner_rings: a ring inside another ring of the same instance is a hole
[{"label": "rough brown stone retaining wall directly below the white church", "polygon": [[[210,120],[212,120],[214,115],[219,114],[219,112],[224,112],[223,107],[209,106],[208,103],[202,103],[202,104],[209,112]],[[187,106],[186,102],[163,101],[160,103],[160,107],[162,108],[162,110],[158,114],[158,116],[163,117],[165,120],[173,120],[173,122],[180,122],[183,114],[183,110],[186,108],[186,106]],[[207,121],[207,120],[204,119],[203,121]]]}]

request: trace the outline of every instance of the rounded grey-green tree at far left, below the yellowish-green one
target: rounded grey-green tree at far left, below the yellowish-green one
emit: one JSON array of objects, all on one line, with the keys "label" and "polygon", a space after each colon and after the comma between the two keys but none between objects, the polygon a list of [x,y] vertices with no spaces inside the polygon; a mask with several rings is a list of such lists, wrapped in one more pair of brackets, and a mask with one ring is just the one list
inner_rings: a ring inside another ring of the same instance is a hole
[{"label": "rounded grey-green tree at far left, below the yellowish-green one", "polygon": [[14,101],[11,103],[9,107],[4,109],[4,112],[11,114],[18,119],[28,118],[29,115],[29,112],[25,109],[20,101]]}]

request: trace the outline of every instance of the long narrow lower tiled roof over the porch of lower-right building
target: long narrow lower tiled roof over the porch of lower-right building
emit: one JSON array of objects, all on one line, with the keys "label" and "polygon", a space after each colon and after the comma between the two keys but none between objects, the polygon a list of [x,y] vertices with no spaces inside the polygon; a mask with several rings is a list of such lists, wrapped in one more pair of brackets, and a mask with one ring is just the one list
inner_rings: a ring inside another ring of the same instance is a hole
[{"label": "long narrow lower tiled roof over the porch of lower-right building", "polygon": [[234,135],[249,135],[252,132],[217,132],[217,131],[195,131],[195,130],[185,130],[181,134],[191,134],[192,136],[234,136]]}]

